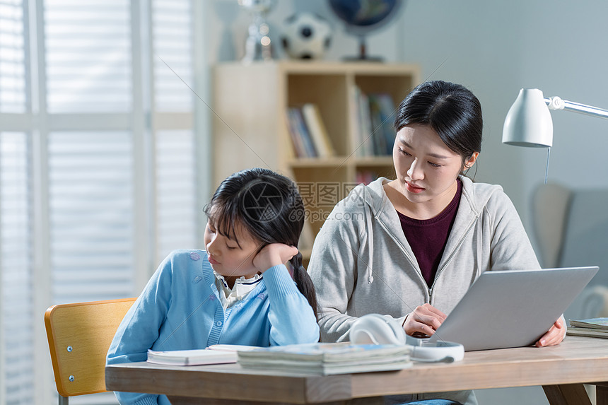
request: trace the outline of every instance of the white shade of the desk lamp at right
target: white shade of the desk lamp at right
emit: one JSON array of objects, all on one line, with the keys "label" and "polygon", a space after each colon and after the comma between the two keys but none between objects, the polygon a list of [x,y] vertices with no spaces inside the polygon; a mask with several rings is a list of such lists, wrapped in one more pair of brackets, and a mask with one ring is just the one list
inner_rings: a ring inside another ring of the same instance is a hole
[{"label": "white shade of the desk lamp at right", "polygon": [[553,146],[553,121],[541,90],[520,90],[505,118],[503,143],[535,148]]}]

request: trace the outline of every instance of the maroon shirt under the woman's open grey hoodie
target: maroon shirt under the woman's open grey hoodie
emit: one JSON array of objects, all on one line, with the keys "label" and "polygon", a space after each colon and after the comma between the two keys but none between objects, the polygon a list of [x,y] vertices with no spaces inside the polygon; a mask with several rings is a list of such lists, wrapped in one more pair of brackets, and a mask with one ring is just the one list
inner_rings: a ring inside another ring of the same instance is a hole
[{"label": "maroon shirt under the woman's open grey hoodie", "polygon": [[457,183],[458,189],[454,198],[435,218],[414,219],[397,211],[405,238],[411,246],[414,256],[416,256],[422,276],[429,288],[435,280],[435,274],[458,211],[458,203],[460,203],[460,195],[462,194],[462,181],[457,179]]}]

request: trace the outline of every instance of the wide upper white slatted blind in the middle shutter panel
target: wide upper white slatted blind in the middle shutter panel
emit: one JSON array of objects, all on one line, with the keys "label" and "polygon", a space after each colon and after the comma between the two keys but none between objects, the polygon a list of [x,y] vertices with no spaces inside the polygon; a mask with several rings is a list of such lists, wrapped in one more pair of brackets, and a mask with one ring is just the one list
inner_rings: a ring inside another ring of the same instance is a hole
[{"label": "wide upper white slatted blind in the middle shutter panel", "polygon": [[128,0],[45,1],[50,113],[131,110]]}]

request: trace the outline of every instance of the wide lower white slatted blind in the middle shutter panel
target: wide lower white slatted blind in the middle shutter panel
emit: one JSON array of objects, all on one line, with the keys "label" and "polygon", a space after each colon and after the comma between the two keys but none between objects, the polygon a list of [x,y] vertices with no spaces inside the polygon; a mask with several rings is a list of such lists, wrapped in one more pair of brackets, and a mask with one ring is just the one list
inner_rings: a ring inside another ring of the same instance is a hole
[{"label": "wide lower white slatted blind in the middle shutter panel", "polygon": [[56,303],[134,294],[129,133],[49,134],[49,217]]}]

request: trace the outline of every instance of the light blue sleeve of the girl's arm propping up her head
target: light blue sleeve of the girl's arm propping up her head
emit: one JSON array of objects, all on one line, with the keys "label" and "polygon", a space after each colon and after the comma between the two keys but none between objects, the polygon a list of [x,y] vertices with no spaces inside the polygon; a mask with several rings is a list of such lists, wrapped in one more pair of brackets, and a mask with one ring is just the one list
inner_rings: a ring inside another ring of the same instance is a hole
[{"label": "light blue sleeve of the girl's arm propping up her head", "polygon": [[280,346],[319,341],[315,313],[286,266],[281,264],[264,271],[264,283],[269,298],[270,344]]}]

